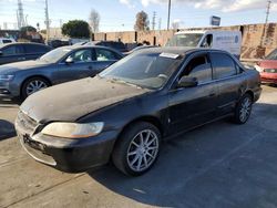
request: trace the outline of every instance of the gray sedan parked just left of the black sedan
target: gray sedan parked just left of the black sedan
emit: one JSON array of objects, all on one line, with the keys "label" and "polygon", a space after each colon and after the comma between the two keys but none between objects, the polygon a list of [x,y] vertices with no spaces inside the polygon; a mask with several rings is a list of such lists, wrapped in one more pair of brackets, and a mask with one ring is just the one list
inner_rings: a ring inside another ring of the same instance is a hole
[{"label": "gray sedan parked just left of the black sedan", "polygon": [[35,61],[0,66],[0,97],[25,98],[32,93],[63,82],[94,76],[122,59],[104,46],[63,46]]}]

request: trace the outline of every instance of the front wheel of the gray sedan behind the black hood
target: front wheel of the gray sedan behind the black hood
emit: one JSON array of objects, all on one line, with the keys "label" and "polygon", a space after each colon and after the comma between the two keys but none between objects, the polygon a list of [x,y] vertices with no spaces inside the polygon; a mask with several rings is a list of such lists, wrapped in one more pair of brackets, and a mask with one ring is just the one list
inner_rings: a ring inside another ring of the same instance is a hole
[{"label": "front wheel of the gray sedan behind the black hood", "polygon": [[48,80],[43,77],[31,77],[28,79],[21,89],[21,98],[25,100],[31,94],[41,91],[43,89],[47,89],[50,86],[50,83]]}]

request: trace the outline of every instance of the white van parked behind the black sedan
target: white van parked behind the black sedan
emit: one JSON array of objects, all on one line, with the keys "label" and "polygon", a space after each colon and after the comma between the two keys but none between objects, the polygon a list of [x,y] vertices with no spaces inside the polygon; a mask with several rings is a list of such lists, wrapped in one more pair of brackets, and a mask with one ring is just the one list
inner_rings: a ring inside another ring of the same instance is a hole
[{"label": "white van parked behind the black sedan", "polygon": [[240,56],[242,33],[240,31],[181,31],[173,35],[165,46],[193,46],[211,48],[228,51],[235,56]]}]

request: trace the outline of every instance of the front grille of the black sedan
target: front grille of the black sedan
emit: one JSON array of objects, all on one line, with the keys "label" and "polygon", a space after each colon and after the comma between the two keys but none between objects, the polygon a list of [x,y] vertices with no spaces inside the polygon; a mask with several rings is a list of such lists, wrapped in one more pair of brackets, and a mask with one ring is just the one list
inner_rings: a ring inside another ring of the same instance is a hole
[{"label": "front grille of the black sedan", "polygon": [[17,123],[21,128],[29,133],[33,133],[39,125],[38,122],[24,114],[22,111],[18,113]]}]

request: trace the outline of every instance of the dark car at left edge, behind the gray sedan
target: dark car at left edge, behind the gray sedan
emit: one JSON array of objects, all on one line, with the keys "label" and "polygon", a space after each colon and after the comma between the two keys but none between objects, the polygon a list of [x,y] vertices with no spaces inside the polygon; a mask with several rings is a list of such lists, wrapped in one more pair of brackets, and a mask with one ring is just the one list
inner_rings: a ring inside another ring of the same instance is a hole
[{"label": "dark car at left edge, behind the gray sedan", "polygon": [[51,51],[50,46],[39,43],[7,43],[0,45],[0,65],[35,60],[49,51]]}]

